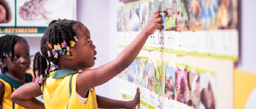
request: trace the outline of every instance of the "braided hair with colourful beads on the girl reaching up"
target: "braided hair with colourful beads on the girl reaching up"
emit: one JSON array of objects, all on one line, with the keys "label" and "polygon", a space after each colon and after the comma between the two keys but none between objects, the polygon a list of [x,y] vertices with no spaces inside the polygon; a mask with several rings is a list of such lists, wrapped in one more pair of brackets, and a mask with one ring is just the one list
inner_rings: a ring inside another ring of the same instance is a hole
[{"label": "braided hair with colourful beads on the girl reaching up", "polygon": [[[76,25],[78,24],[78,25]],[[39,87],[44,84],[44,78],[49,75],[50,62],[58,65],[59,55],[70,55],[70,47],[74,47],[76,33],[73,28],[81,28],[83,25],[75,20],[53,20],[49,23],[41,39],[41,51],[35,54],[33,72]]]}]

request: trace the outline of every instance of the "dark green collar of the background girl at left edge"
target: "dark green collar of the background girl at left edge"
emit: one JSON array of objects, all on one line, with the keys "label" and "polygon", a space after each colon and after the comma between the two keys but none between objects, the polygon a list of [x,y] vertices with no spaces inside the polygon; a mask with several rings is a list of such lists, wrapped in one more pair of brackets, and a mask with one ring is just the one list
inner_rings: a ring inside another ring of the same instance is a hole
[{"label": "dark green collar of the background girl at left edge", "polygon": [[[26,83],[32,82],[32,75],[30,75],[29,73],[25,73],[25,76],[26,76]],[[24,83],[16,81],[15,79],[9,77],[6,74],[0,75],[0,79],[3,79],[7,83],[9,83],[12,87],[15,87],[16,89],[24,85]]]}]

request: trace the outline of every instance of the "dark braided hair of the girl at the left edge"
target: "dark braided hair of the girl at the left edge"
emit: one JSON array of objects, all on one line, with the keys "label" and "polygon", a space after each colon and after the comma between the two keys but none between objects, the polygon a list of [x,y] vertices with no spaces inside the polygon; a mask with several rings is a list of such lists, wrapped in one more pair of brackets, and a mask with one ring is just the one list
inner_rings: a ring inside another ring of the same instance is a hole
[{"label": "dark braided hair of the girl at the left edge", "polygon": [[11,56],[11,61],[13,62],[13,53],[14,53],[14,46],[18,41],[25,42],[26,44],[27,41],[23,37],[16,36],[16,35],[5,35],[0,37],[0,68],[1,68],[1,73],[6,73],[8,71],[7,67],[3,67],[3,59],[7,58],[8,60],[10,59]]}]

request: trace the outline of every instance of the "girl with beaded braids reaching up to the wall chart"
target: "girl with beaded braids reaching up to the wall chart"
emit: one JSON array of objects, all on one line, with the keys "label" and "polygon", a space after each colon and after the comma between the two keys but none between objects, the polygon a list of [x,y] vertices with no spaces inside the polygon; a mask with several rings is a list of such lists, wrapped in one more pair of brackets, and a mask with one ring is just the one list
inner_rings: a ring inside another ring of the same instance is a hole
[{"label": "girl with beaded braids reaching up to the wall chart", "polygon": [[[133,101],[116,101],[95,94],[93,87],[104,84],[125,70],[137,57],[149,35],[162,28],[160,11],[154,13],[144,30],[120,53],[117,59],[101,67],[93,67],[96,50],[90,31],[81,22],[53,20],[41,39],[41,52],[35,54],[34,81],[12,93],[12,101],[28,109],[135,109],[140,91]],[[49,72],[49,62],[58,70]],[[36,100],[44,95],[44,103]]]}]

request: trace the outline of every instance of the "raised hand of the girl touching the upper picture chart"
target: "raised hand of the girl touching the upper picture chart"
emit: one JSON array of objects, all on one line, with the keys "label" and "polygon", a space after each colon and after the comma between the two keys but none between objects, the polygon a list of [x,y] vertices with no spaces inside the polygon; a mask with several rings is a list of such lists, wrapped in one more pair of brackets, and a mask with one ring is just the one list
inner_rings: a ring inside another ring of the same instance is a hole
[{"label": "raised hand of the girl touching the upper picture chart", "polygon": [[156,29],[163,28],[163,16],[160,14],[162,11],[154,12],[153,16],[148,22],[148,25],[143,29],[142,32],[145,32],[147,36],[152,35]]}]

